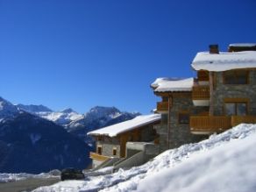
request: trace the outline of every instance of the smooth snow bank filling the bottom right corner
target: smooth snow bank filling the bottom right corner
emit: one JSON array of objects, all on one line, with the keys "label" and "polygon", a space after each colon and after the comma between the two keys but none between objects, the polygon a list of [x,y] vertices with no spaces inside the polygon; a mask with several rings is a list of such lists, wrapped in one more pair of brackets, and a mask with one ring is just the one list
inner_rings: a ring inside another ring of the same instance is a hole
[{"label": "smooth snow bank filling the bottom right corner", "polygon": [[256,191],[255,136],[192,155],[176,167],[149,175],[138,191]]}]

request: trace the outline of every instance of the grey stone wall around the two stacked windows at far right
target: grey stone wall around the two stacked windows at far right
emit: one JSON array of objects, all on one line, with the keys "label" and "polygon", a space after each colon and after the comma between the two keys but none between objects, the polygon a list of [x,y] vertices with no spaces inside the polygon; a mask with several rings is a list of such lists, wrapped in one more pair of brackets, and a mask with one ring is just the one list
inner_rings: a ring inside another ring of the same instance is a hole
[{"label": "grey stone wall around the two stacked windows at far right", "polygon": [[223,72],[217,72],[213,92],[214,115],[224,115],[224,98],[249,98],[249,115],[256,115],[256,71],[249,72],[249,84],[228,85],[223,83]]}]

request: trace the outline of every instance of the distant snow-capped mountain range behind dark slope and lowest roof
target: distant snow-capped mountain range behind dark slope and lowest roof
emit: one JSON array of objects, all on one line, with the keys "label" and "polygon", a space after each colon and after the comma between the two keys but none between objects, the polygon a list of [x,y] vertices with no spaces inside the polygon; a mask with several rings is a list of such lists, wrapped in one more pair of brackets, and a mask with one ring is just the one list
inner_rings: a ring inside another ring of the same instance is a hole
[{"label": "distant snow-capped mountain range behind dark slope and lowest roof", "polygon": [[85,139],[88,143],[91,143],[92,139],[87,136],[87,132],[130,120],[140,115],[138,112],[123,112],[117,110],[115,107],[102,106],[96,106],[85,114],[79,114],[70,108],[61,111],[53,111],[43,105],[18,104],[17,106],[20,110],[25,110],[65,127],[68,132],[79,136],[81,139]]}]

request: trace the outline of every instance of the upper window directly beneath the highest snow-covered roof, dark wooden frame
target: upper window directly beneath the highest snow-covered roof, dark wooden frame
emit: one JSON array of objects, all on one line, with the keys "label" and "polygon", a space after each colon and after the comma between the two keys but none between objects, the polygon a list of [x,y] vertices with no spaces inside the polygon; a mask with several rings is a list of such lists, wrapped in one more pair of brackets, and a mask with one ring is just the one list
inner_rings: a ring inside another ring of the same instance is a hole
[{"label": "upper window directly beneath the highest snow-covered roof, dark wooden frame", "polygon": [[248,71],[224,71],[224,84],[248,84]]}]

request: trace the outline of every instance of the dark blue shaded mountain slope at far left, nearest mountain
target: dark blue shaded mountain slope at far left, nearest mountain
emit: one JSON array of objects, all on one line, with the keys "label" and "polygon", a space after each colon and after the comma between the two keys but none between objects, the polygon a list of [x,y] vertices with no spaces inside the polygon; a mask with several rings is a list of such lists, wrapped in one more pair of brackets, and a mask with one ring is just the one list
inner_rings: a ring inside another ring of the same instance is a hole
[{"label": "dark blue shaded mountain slope at far left, nearest mountain", "polygon": [[41,173],[89,166],[91,147],[62,126],[0,97],[0,171]]}]

